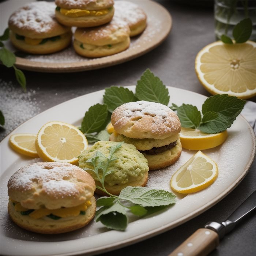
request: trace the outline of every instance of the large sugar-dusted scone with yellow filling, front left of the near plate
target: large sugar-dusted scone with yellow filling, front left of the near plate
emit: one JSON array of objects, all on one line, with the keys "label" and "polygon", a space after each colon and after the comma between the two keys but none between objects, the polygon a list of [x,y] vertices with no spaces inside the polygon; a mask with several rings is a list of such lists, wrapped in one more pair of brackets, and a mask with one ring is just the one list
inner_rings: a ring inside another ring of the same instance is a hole
[{"label": "large sugar-dusted scone with yellow filling, front left of the near plate", "polygon": [[39,162],[23,166],[8,181],[8,213],[18,226],[43,234],[79,229],[96,211],[93,178],[78,166]]}]

